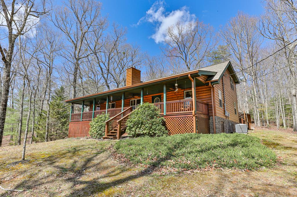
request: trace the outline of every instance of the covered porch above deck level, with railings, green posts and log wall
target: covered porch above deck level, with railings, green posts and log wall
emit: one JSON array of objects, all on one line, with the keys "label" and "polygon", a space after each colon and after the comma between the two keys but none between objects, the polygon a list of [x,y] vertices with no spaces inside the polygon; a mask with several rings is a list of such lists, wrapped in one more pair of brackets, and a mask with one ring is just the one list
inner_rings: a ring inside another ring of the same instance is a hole
[{"label": "covered porch above deck level, with railings, green posts and log wall", "polygon": [[[178,88],[176,88],[178,84]],[[198,114],[209,115],[208,103],[197,99],[196,87],[203,84],[200,80],[176,80],[171,83],[139,88],[122,93],[113,93],[105,97],[97,97],[77,101],[81,105],[79,113],[73,113],[71,107],[70,122],[91,121],[97,115],[108,113],[114,117],[128,107],[134,110],[143,102],[153,103],[160,115],[189,114],[193,111]],[[193,89],[193,90],[192,90]]]}]

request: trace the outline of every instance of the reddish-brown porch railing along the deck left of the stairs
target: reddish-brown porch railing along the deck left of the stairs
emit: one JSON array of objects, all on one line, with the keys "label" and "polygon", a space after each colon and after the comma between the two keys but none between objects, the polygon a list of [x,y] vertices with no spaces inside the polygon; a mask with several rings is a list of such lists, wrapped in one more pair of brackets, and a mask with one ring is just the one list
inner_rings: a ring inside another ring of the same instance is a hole
[{"label": "reddish-brown porch railing along the deck left of the stairs", "polygon": [[[127,109],[129,107],[124,107],[124,109]],[[110,115],[110,117],[114,117],[115,115],[121,113],[122,109],[121,108],[114,108],[114,109],[108,109],[107,113]],[[97,117],[98,115],[101,114],[105,114],[106,110],[98,110],[98,111],[94,111],[94,118]],[[83,117],[82,117],[82,121],[89,121],[92,120],[92,115],[93,115],[93,111],[90,112],[83,112]],[[81,113],[75,113],[75,114],[71,114],[71,122],[72,121],[80,121],[80,116]]]}]

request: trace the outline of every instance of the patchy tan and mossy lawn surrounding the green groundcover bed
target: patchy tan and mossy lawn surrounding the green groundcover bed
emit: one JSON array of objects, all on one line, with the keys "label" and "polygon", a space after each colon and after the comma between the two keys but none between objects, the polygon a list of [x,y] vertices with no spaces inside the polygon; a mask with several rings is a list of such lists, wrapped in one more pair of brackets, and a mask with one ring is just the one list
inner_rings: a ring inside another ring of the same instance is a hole
[{"label": "patchy tan and mossy lawn surrounding the green groundcover bed", "polygon": [[[128,167],[110,159],[108,147],[114,141],[64,139],[32,144],[26,162],[19,162],[21,146],[6,146],[0,148],[0,179],[9,176],[0,185],[24,191],[0,190],[0,196],[297,196],[297,135],[255,130],[248,136],[263,140],[282,164],[249,172],[215,169],[160,175],[144,173],[145,166]],[[201,140],[194,140],[200,148]]]}]

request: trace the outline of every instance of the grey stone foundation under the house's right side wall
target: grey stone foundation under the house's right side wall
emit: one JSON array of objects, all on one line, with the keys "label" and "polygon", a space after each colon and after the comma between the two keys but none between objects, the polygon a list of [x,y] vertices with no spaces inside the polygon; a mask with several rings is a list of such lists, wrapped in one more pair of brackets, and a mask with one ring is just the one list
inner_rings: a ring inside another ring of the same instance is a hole
[{"label": "grey stone foundation under the house's right side wall", "polygon": [[[222,117],[215,116],[216,133],[233,133],[235,132],[235,125],[239,124],[232,120],[227,120]],[[222,126],[224,125],[224,126]],[[214,133],[213,117],[209,117],[210,133]],[[224,129],[224,131],[223,131]]]}]

